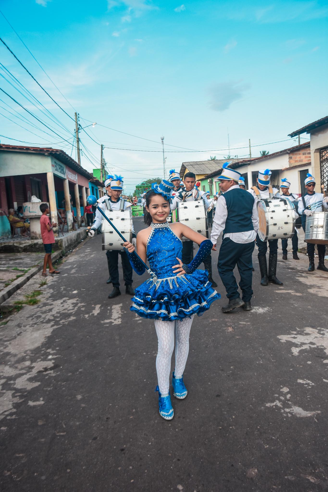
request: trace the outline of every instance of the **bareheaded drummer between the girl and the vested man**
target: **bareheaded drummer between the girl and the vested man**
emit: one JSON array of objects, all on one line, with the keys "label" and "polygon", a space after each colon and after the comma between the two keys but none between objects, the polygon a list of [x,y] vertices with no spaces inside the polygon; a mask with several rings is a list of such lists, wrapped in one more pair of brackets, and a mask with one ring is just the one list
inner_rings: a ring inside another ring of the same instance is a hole
[{"label": "bareheaded drummer between the girl and the vested man", "polygon": [[[186,173],[183,177],[184,190],[180,191],[177,195],[175,195],[171,210],[176,210],[178,207],[178,203],[180,201],[192,202],[195,200],[204,200],[206,210],[209,208],[209,201],[206,198],[205,191],[201,191],[196,186],[196,176],[194,173]],[[193,242],[192,241],[183,241],[182,242],[182,263],[190,263],[193,258]],[[212,287],[217,287],[217,283],[214,282],[212,278],[212,259],[211,254],[209,254],[204,259],[204,266],[206,270],[209,272],[209,281],[212,283]]]}]

